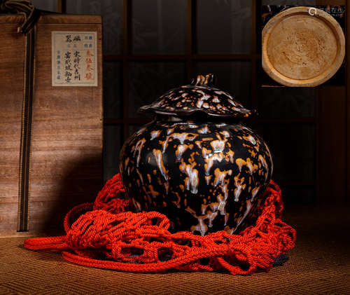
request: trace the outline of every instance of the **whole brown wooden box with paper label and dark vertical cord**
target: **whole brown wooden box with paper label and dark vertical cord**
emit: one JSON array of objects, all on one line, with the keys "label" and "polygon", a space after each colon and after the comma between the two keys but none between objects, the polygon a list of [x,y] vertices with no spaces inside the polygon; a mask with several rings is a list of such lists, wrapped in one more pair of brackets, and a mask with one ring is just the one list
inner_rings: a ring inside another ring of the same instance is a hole
[{"label": "whole brown wooden box with paper label and dark vertical cord", "polygon": [[[0,15],[2,237],[62,231],[66,212],[94,200],[102,188],[102,18],[42,15],[34,28],[33,46],[28,35],[18,33],[23,21],[22,15]],[[57,45],[60,33],[67,43]],[[59,46],[78,50],[78,63],[72,51],[67,71],[69,55],[64,54],[69,50],[62,47],[60,52]],[[88,69],[85,49],[91,49]],[[29,64],[31,52],[34,60]],[[84,84],[86,79],[78,74],[93,83]],[[57,84],[57,78],[69,76],[76,76],[76,83],[65,79]],[[26,102],[29,92],[31,107]]]}]

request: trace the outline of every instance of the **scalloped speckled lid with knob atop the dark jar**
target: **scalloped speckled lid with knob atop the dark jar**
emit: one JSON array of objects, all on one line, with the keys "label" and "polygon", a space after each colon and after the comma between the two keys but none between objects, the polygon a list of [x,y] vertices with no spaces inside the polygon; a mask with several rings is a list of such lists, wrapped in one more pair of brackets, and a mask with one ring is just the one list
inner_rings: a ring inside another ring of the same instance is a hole
[{"label": "scalloped speckled lid with knob atop the dark jar", "polygon": [[248,117],[252,114],[228,92],[216,88],[214,79],[214,74],[198,75],[190,85],[165,92],[139,111],[169,116],[189,116],[197,112],[216,117]]}]

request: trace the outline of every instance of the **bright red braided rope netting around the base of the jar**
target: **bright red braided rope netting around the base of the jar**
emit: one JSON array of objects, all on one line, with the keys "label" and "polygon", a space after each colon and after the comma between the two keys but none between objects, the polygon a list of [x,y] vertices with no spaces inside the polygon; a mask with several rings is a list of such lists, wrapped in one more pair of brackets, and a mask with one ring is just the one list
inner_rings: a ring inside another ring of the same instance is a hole
[{"label": "bright red braided rope netting around the base of the jar", "polygon": [[106,182],[93,204],[74,207],[64,219],[66,235],[25,240],[27,249],[58,249],[64,259],[83,266],[139,273],[162,270],[228,270],[250,275],[269,270],[274,259],[295,245],[295,230],[281,221],[279,186],[270,182],[254,226],[237,235],[225,231],[194,235],[170,233],[159,212],[134,213],[118,198],[120,175]]}]

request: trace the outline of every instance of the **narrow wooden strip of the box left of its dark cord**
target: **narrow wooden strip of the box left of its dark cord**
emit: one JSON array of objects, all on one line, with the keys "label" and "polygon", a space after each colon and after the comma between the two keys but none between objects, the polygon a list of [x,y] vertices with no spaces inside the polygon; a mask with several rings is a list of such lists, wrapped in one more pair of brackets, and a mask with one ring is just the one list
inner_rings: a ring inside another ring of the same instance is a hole
[{"label": "narrow wooden strip of the box left of its dark cord", "polygon": [[25,36],[17,27],[0,27],[0,235],[17,231],[25,65]]}]

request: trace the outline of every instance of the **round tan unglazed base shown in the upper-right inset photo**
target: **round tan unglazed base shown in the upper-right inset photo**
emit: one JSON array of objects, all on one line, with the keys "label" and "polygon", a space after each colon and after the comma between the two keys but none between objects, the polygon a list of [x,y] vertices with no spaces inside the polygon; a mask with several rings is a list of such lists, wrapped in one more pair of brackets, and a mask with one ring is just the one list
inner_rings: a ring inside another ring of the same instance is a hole
[{"label": "round tan unglazed base shown in the upper-right inset photo", "polygon": [[309,9],[282,11],[262,31],[262,67],[283,85],[320,85],[335,74],[344,60],[342,28],[328,13]]}]

